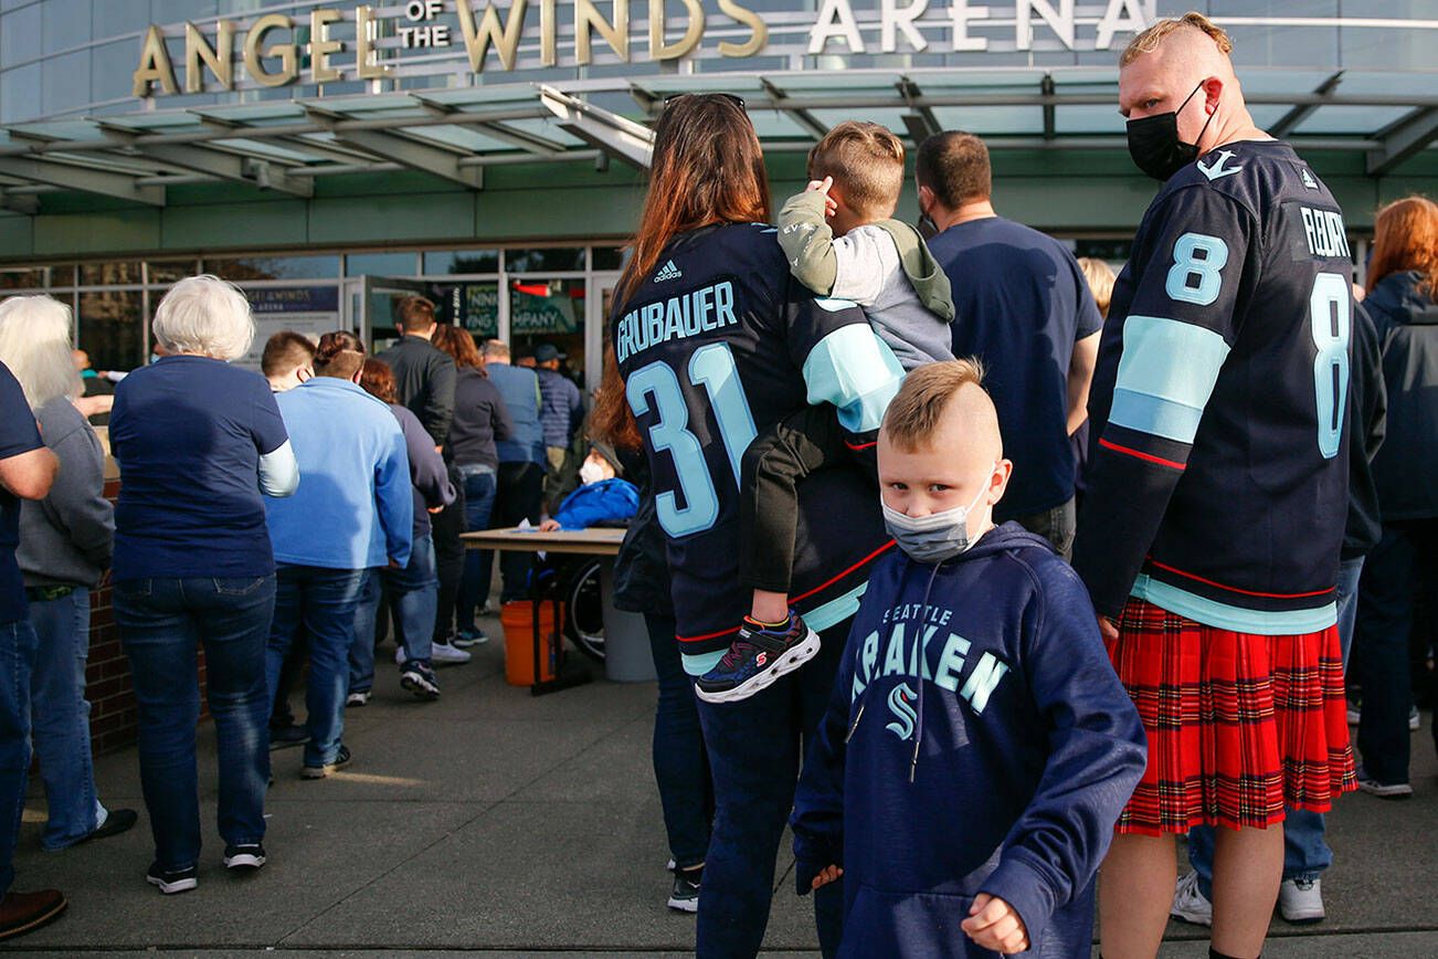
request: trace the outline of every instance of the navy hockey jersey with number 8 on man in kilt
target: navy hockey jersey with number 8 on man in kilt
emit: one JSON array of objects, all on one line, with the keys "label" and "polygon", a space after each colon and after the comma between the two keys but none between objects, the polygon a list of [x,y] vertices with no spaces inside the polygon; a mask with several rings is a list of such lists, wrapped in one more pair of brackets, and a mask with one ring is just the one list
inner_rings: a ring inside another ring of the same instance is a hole
[{"label": "navy hockey jersey with number 8 on man in kilt", "polygon": [[1347,506],[1353,269],[1343,214],[1281,141],[1176,173],[1113,290],[1089,401],[1074,568],[1267,635],[1334,623]]}]

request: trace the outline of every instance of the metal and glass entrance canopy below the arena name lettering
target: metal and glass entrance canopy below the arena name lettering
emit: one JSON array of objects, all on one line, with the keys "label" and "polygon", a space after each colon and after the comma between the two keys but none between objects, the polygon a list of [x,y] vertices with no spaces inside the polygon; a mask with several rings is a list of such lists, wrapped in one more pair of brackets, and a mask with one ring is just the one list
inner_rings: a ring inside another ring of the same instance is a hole
[{"label": "metal and glass entrance canopy below the arena name lettering", "polygon": [[[1366,154],[1382,175],[1438,139],[1438,95],[1412,73],[1245,72],[1255,121],[1310,151]],[[745,98],[768,151],[805,151],[864,118],[910,141],[962,128],[995,150],[1122,150],[1113,69],[807,70],[506,83],[243,102],[0,128],[0,206],[79,190],[162,206],[165,187],[233,181],[308,197],[315,177],[418,170],[470,190],[489,165],[611,158],[647,167],[676,92]]]}]

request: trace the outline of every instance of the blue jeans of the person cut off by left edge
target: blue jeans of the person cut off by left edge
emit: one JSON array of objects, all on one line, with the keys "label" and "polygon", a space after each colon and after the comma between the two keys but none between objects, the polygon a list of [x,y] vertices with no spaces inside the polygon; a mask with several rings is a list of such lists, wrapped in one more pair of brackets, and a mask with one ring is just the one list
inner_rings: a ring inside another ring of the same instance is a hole
[{"label": "blue jeans of the person cut off by left edge", "polygon": [[29,620],[0,623],[0,896],[14,884],[14,841],[30,785],[30,673],[36,638]]}]

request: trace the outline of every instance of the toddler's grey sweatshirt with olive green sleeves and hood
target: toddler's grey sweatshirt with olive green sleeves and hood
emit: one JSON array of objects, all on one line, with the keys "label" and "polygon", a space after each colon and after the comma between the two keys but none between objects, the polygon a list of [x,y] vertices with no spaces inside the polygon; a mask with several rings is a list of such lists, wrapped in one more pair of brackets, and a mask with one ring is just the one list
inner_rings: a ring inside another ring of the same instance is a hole
[{"label": "toddler's grey sweatshirt with olive green sleeves and hood", "polygon": [[912,226],[881,220],[835,237],[824,194],[805,191],[779,211],[779,246],[804,286],[863,306],[905,370],[953,359],[949,280]]}]

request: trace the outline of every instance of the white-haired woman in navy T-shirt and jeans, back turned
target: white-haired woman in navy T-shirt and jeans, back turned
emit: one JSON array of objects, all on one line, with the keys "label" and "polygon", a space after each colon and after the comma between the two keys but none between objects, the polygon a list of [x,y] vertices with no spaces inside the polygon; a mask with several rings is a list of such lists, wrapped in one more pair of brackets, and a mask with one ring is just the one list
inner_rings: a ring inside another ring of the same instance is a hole
[{"label": "white-haired woman in navy T-shirt and jeans, back turned", "polygon": [[239,289],[214,276],[180,280],[151,329],[170,355],[119,382],[109,421],[119,460],[115,623],[139,702],[139,774],[155,840],[145,878],[181,893],[196,887],[200,857],[201,643],[224,866],[265,864],[275,556],[260,492],[289,496],[299,473],[269,384],[229,365],[255,338]]}]

